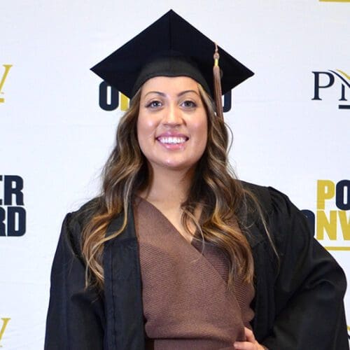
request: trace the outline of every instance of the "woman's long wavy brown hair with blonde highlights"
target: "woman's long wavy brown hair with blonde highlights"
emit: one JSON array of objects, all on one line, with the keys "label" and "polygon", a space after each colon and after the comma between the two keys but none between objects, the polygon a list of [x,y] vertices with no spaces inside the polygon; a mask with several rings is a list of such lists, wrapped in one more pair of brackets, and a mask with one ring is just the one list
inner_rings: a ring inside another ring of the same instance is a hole
[{"label": "woman's long wavy brown hair with blonde highlights", "polygon": [[[253,256],[242,232],[245,223],[241,216],[249,194],[230,168],[229,137],[225,123],[216,116],[211,97],[200,85],[199,88],[207,111],[208,141],[197,164],[188,198],[181,205],[182,223],[186,229],[195,225],[196,239],[202,237],[225,253],[229,262],[228,286],[231,288],[237,274],[244,281],[253,280]],[[120,119],[116,146],[104,167],[102,194],[94,202],[94,214],[83,228],[82,251],[86,262],[86,281],[99,288],[104,285],[104,243],[125,229],[132,198],[148,181],[147,160],[141,153],[137,140],[140,91],[135,94],[130,109]],[[202,208],[201,223],[195,218],[198,206]],[[123,225],[106,237],[109,223],[118,214],[123,215]]]}]

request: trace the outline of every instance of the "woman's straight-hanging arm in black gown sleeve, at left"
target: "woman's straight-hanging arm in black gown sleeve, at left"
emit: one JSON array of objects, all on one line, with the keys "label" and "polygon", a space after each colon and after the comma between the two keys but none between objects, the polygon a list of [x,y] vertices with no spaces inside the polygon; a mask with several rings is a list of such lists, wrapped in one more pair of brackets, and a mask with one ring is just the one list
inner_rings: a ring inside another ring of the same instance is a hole
[{"label": "woman's straight-hanging arm in black gown sleeve, at left", "polygon": [[104,347],[104,302],[96,290],[85,290],[80,225],[72,216],[64,218],[52,265],[45,350]]}]

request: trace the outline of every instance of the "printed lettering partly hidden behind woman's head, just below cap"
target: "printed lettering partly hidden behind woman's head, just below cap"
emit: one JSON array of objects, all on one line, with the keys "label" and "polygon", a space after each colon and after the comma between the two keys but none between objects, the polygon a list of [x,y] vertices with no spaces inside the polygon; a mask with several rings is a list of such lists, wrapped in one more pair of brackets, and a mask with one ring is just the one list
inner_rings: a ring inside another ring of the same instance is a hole
[{"label": "printed lettering partly hidden behind woman's head, just below cap", "polygon": [[[129,99],[116,88],[112,87],[106,81],[99,84],[99,106],[104,111],[115,111],[120,108],[120,111],[127,111],[129,108]],[[223,112],[231,110],[232,92],[229,91],[223,96]]]}]

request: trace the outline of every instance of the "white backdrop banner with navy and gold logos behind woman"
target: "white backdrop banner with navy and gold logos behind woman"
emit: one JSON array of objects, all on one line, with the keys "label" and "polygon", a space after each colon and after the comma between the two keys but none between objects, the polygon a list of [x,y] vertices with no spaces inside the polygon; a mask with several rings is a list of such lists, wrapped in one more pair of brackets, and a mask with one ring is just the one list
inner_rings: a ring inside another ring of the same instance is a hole
[{"label": "white backdrop banner with navy and gold logos behind woman", "polygon": [[43,348],[62,219],[96,195],[127,109],[89,69],[170,8],[255,71],[224,98],[239,178],[288,194],[350,279],[350,1],[1,1],[4,350]]}]

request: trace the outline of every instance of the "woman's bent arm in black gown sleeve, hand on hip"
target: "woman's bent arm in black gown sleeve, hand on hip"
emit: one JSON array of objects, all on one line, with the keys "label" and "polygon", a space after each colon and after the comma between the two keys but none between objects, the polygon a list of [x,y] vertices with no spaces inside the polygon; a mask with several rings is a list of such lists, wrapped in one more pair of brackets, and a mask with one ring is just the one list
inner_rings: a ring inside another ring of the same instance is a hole
[{"label": "woman's bent arm in black gown sleeve, hand on hip", "polygon": [[306,218],[288,197],[270,189],[269,228],[279,251],[272,332],[261,340],[274,349],[346,350],[344,272],[312,237]]}]

